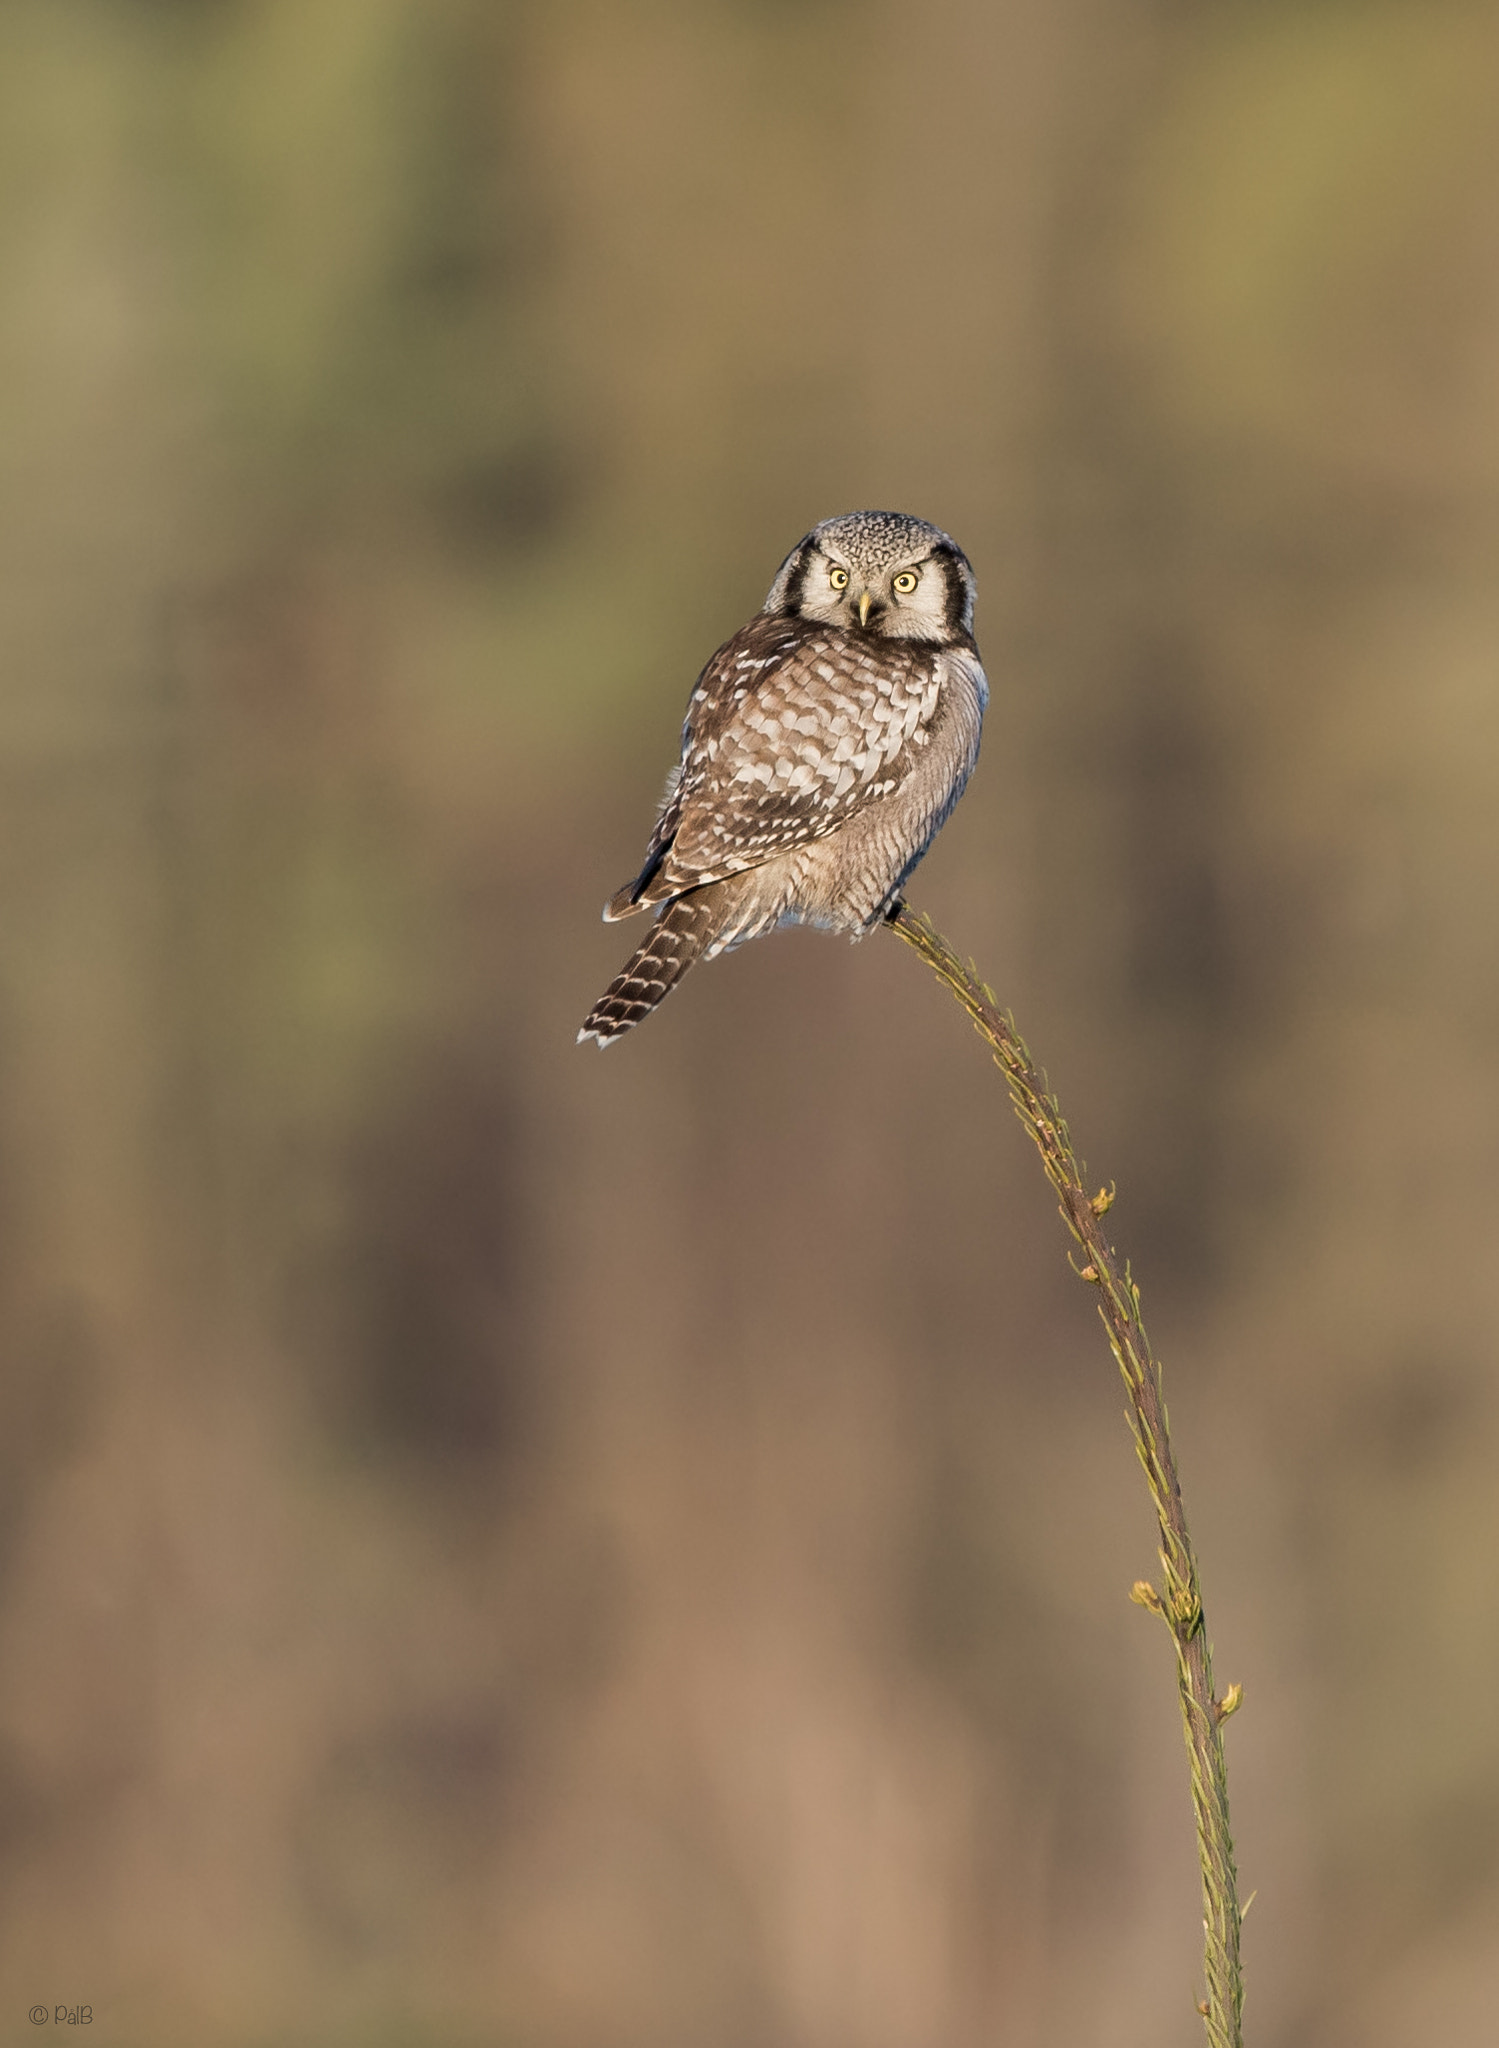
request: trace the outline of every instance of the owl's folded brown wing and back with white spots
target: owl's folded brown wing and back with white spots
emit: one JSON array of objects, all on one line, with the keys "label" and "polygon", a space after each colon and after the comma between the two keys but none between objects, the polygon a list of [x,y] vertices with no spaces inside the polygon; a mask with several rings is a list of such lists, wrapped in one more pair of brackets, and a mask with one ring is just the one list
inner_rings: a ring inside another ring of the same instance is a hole
[{"label": "owl's folded brown wing and back with white spots", "polygon": [[889,797],[926,745],[940,684],[932,647],[752,618],[698,678],[645,868],[610,909],[758,868]]}]

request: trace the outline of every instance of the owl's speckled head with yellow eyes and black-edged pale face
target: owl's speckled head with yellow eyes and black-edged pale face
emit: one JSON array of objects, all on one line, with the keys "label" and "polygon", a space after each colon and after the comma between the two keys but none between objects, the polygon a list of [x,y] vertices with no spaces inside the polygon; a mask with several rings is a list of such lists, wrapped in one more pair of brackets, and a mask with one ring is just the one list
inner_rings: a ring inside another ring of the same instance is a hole
[{"label": "owl's speckled head with yellow eyes and black-edged pale face", "polygon": [[764,608],[944,645],[973,633],[973,569],[956,541],[924,518],[844,512],[793,547]]}]

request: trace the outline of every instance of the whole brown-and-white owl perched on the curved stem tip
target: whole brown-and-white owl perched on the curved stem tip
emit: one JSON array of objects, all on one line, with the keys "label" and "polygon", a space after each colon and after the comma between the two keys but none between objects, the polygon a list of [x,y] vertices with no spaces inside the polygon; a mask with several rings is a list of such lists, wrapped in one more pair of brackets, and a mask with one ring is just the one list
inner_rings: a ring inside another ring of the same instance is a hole
[{"label": "whole brown-and-white owl perched on the curved stem tip", "polygon": [[813,526],[698,676],[645,864],[604,909],[659,915],[580,1042],[778,924],[874,930],[962,795],[987,702],[962,549],[901,512]]}]

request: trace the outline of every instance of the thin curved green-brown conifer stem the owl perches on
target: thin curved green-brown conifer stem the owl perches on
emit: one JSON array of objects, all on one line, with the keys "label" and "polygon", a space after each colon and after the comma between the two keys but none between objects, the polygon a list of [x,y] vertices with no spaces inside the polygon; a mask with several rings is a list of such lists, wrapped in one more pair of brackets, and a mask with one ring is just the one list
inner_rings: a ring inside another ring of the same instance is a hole
[{"label": "thin curved green-brown conifer stem the owl perches on", "polygon": [[1057,1098],[1046,1087],[1046,1075],[1034,1065],[1014,1018],[995,1004],[993,989],[985,987],[973,969],[962,965],[930,920],[899,905],[889,922],[946,983],[973,1018],[979,1036],[993,1049],[995,1065],[1010,1083],[1016,1114],[1036,1143],[1046,1180],[1061,1196],[1063,1223],[1081,1251],[1081,1262],[1071,1260],[1073,1272],[1098,1288],[1098,1313],[1124,1376],[1134,1448],[1161,1524],[1163,1583],[1157,1589],[1139,1581],[1130,1599],[1157,1614],[1175,1645],[1182,1726],[1192,1767],[1192,1806],[1202,1860],[1208,1995],[1198,2011],[1206,2021],[1210,2048],[1243,2048],[1243,1976],[1239,1972],[1243,1913],[1239,1911],[1233,1868],[1229,1782],[1223,1759],[1223,1722],[1239,1706],[1243,1688],[1231,1686],[1223,1698],[1214,1698],[1212,1692],[1212,1649],[1202,1618],[1198,1563],[1192,1552],[1167,1430],[1161,1366],[1145,1335],[1141,1294],[1130,1278],[1128,1262],[1120,1260],[1104,1235],[1104,1217],[1114,1202],[1114,1192],[1100,1188],[1098,1194],[1087,1194],[1083,1165],[1073,1151]]}]

